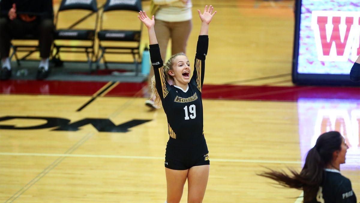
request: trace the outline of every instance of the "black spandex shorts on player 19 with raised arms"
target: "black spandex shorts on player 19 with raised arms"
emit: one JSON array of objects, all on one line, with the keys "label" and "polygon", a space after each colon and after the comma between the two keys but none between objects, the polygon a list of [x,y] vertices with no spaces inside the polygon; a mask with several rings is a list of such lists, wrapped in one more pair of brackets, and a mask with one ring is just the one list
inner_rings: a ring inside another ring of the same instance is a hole
[{"label": "black spandex shorts on player 19 with raised arms", "polygon": [[191,140],[170,138],[166,145],[165,167],[186,170],[193,166],[209,165],[209,151],[205,138]]}]

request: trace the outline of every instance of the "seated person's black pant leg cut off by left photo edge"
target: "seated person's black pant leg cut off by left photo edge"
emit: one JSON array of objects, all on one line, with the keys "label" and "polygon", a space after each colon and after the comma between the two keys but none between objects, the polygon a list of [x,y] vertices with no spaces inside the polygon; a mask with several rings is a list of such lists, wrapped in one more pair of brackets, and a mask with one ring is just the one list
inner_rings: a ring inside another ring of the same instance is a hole
[{"label": "seated person's black pant leg cut off by left photo edge", "polygon": [[9,57],[11,31],[8,18],[0,18],[0,58]]}]

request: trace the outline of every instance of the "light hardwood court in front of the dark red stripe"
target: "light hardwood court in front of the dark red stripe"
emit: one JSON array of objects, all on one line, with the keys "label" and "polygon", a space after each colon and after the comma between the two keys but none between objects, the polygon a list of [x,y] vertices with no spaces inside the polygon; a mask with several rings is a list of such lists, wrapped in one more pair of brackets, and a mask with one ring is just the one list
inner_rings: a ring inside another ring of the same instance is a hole
[{"label": "light hardwood court in front of the dark red stripe", "polygon": [[[163,202],[163,160],[168,139],[162,109],[149,112],[143,98],[1,95],[1,116],[109,118],[114,124],[150,120],[126,133],[1,130],[2,201]],[[71,101],[71,102],[69,102]],[[204,202],[295,202],[300,191],[278,189],[256,176],[262,168],[300,169],[295,102],[204,100],[204,131],[211,169]],[[16,119],[1,125],[44,124]],[[342,170],[359,194],[359,169]],[[184,190],[186,197],[186,187]],[[182,202],[186,202],[183,198]]]}]

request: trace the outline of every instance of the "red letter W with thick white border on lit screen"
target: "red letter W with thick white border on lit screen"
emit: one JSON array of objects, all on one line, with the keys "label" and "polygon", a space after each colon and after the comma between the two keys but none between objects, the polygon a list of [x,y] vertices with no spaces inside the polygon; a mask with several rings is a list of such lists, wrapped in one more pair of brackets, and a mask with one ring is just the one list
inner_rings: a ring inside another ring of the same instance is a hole
[{"label": "red letter W with thick white border on lit screen", "polygon": [[360,55],[360,12],[313,11],[311,29],[319,61],[355,61]]}]

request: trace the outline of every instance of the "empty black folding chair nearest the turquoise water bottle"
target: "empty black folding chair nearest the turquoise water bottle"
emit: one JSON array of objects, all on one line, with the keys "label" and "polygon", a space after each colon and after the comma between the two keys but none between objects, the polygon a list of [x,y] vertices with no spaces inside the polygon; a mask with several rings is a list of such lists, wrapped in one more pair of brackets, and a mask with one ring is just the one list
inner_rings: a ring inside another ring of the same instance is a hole
[{"label": "empty black folding chair nearest the turquoise water bottle", "polygon": [[[96,69],[99,69],[100,60],[103,59],[104,66],[108,69],[107,61],[105,60],[105,53],[110,54],[131,54],[135,63],[135,75],[138,75],[138,63],[140,59],[140,36],[142,30],[142,24],[140,22],[139,30],[115,30],[115,29],[103,29],[103,16],[105,12],[110,11],[135,11],[141,10],[141,0],[107,0],[104,6],[104,10],[100,16],[100,31],[98,32],[99,49],[96,54],[98,60],[96,62]],[[103,41],[107,42],[135,42],[134,46],[104,46]],[[108,49],[111,49],[109,51]],[[99,53],[101,51],[101,55]],[[136,57],[137,56],[137,57]],[[119,61],[120,62],[120,61]]]}]

